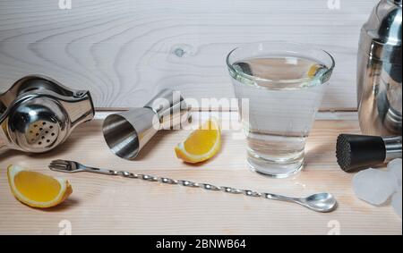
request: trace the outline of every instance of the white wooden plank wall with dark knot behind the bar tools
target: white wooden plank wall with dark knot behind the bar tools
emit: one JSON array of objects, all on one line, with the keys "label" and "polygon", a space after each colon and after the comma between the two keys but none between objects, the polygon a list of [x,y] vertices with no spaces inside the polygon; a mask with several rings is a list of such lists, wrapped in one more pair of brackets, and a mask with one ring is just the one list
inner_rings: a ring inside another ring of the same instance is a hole
[{"label": "white wooden plank wall with dark knot behind the bar tools", "polygon": [[90,89],[98,107],[140,106],[164,87],[233,97],[227,52],[289,40],[336,58],[322,109],[355,109],[359,31],[377,0],[73,0],[71,10],[58,2],[0,0],[0,91],[41,73]]}]

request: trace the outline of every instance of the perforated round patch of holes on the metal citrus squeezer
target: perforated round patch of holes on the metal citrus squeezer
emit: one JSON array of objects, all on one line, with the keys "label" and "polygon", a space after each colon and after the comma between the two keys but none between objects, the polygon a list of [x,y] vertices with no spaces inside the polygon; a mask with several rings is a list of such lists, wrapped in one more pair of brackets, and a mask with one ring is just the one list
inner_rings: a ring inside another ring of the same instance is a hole
[{"label": "perforated round patch of holes on the metal citrus squeezer", "polygon": [[34,122],[27,131],[27,140],[30,145],[37,148],[46,148],[54,143],[58,136],[58,125],[54,122]]}]

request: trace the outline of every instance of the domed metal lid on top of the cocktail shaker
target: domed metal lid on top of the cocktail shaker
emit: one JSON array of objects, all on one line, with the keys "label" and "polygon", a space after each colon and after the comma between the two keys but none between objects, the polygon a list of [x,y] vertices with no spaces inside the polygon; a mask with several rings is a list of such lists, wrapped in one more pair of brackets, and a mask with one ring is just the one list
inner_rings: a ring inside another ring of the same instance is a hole
[{"label": "domed metal lid on top of the cocktail shaker", "polygon": [[360,49],[373,58],[401,64],[402,0],[382,0],[364,24]]}]

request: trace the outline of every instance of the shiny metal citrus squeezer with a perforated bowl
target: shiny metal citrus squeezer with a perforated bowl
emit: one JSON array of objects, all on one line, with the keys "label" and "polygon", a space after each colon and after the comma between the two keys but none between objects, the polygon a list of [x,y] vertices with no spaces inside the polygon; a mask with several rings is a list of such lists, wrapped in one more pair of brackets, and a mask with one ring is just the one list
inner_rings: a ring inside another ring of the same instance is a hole
[{"label": "shiny metal citrus squeezer with a perforated bowl", "polygon": [[89,91],[44,76],[24,77],[0,94],[0,151],[47,152],[94,114]]}]

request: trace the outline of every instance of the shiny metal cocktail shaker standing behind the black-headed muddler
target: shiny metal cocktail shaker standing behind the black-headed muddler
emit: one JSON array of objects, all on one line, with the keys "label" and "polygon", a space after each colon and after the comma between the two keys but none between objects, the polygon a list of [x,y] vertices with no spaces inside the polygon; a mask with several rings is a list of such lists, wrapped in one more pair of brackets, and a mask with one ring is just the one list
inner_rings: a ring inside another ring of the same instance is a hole
[{"label": "shiny metal cocktail shaker standing behind the black-headed muddler", "polygon": [[401,136],[402,0],[382,0],[361,30],[358,113],[364,134]]}]

